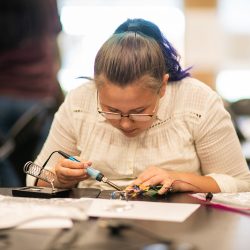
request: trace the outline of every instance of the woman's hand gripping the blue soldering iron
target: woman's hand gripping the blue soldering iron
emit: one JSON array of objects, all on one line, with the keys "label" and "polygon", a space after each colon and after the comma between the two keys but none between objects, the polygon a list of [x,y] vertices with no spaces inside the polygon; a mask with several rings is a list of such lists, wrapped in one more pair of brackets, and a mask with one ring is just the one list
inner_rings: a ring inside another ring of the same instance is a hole
[{"label": "woman's hand gripping the blue soldering iron", "polygon": [[76,162],[69,159],[60,159],[54,167],[57,179],[55,186],[59,188],[73,188],[80,181],[89,178],[86,168],[91,162]]}]

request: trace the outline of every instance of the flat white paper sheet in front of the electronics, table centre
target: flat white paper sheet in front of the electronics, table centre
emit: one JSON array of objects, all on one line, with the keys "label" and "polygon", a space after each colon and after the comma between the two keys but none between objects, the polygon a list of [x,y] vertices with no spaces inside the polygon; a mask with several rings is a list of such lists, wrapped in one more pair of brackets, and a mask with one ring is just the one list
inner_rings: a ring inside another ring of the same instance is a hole
[{"label": "flat white paper sheet in front of the electronics, table centre", "polygon": [[199,204],[95,199],[87,212],[91,217],[183,222]]}]

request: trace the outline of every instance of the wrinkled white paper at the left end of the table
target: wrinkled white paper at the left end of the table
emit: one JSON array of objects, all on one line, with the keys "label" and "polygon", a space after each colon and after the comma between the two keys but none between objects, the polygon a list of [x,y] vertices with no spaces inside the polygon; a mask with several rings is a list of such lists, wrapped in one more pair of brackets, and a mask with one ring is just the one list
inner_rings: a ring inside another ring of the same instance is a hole
[{"label": "wrinkled white paper at the left end of the table", "polygon": [[86,220],[91,199],[36,199],[0,195],[0,229],[58,228]]}]

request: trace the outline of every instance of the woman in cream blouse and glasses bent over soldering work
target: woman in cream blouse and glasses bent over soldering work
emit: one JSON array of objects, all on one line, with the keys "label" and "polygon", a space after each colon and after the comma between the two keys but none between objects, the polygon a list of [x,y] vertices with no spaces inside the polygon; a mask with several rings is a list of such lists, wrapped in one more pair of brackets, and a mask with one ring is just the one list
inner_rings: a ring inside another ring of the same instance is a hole
[{"label": "woman in cream blouse and glasses bent over soldering work", "polygon": [[159,28],[143,19],[127,20],[100,48],[94,80],[67,95],[36,163],[55,150],[81,159],[52,157],[57,187],[109,189],[89,178],[92,164],[118,186],[162,184],[160,194],[250,191],[221,98],[181,68]]}]

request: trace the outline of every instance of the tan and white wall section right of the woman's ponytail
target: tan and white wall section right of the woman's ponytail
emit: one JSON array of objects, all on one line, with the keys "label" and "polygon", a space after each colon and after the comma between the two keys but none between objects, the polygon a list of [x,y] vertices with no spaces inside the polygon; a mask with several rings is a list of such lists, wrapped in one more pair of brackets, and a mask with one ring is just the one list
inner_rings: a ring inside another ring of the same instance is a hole
[{"label": "tan and white wall section right of the woman's ponytail", "polygon": [[250,2],[185,0],[185,63],[229,101],[250,98]]}]

